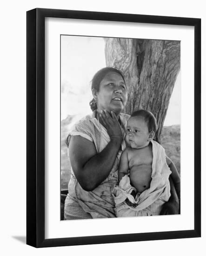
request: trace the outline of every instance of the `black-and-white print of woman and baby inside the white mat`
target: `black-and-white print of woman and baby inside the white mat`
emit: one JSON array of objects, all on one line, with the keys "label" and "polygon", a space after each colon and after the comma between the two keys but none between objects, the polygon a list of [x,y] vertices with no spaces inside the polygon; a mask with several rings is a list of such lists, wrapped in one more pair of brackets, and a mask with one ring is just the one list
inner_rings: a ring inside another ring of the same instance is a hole
[{"label": "black-and-white print of woman and baby inside the white mat", "polygon": [[60,220],[180,214],[180,50],[60,35]]}]

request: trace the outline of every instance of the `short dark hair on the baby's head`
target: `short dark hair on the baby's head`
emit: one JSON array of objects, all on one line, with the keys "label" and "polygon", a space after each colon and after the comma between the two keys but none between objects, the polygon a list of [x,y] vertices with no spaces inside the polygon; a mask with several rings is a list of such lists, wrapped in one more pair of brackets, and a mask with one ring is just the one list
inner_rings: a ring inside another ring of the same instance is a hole
[{"label": "short dark hair on the baby's head", "polygon": [[139,116],[143,117],[144,120],[146,121],[149,132],[153,131],[154,133],[156,133],[157,121],[154,115],[145,109],[139,109],[137,111],[134,111],[131,115],[131,117],[139,117]]}]

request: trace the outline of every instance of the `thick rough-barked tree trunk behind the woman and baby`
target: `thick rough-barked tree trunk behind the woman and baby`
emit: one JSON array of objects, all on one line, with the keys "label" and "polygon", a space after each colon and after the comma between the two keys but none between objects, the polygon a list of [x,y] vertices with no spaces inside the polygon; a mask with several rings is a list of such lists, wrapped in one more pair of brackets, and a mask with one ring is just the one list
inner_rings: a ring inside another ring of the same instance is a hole
[{"label": "thick rough-barked tree trunk behind the woman and baby", "polygon": [[116,67],[126,79],[125,113],[143,108],[157,119],[160,142],[169,100],[180,69],[180,42],[169,40],[105,39],[106,66]]}]

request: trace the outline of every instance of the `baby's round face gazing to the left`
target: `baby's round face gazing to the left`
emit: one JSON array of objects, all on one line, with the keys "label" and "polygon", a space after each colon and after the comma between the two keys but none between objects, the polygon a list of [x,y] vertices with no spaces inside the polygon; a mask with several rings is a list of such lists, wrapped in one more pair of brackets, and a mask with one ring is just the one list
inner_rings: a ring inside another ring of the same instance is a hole
[{"label": "baby's round face gazing to the left", "polygon": [[126,142],[131,148],[144,148],[149,142],[149,130],[142,117],[130,117],[126,126]]}]

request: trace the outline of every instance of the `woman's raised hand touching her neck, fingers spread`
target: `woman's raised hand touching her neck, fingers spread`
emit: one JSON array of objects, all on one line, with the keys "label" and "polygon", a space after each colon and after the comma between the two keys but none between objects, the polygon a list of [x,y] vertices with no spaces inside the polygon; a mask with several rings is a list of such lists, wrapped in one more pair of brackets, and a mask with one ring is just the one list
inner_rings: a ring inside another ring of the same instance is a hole
[{"label": "woman's raised hand touching her neck, fingers spread", "polygon": [[100,115],[100,122],[106,128],[110,139],[117,139],[118,141],[122,142],[123,134],[120,127],[120,123],[117,120],[117,117],[113,111],[111,111],[111,115],[107,110],[101,111]]}]

